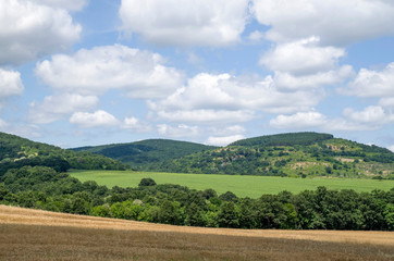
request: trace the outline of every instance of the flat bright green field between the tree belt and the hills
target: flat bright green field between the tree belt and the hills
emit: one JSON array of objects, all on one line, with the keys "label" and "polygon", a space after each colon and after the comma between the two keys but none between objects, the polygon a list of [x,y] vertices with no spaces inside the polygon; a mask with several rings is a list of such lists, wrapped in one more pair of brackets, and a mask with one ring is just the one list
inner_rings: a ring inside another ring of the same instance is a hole
[{"label": "flat bright green field between the tree belt and the hills", "polygon": [[144,177],[150,177],[157,184],[180,184],[189,188],[204,190],[213,188],[219,195],[232,191],[238,197],[258,198],[263,194],[278,194],[287,190],[294,194],[319,186],[329,189],[354,189],[371,191],[373,189],[389,190],[394,187],[394,181],[374,181],[362,178],[291,178],[241,175],[208,175],[180,174],[132,171],[74,171],[71,176],[81,182],[96,181],[108,187],[136,187]]}]

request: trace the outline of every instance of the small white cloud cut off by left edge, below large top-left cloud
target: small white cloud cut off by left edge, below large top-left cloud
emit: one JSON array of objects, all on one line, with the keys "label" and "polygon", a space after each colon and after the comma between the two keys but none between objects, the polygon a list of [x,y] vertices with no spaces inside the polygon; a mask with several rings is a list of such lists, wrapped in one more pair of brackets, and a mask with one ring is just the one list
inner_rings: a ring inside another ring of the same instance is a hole
[{"label": "small white cloud cut off by left edge, below large top-left cloud", "polygon": [[0,100],[9,96],[22,95],[23,90],[24,86],[19,72],[0,69]]}]

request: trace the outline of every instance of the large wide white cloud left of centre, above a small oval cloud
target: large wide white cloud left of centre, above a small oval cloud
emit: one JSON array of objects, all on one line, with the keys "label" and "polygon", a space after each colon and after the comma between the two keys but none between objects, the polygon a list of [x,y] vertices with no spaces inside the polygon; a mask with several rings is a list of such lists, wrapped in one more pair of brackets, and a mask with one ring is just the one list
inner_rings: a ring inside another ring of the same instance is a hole
[{"label": "large wide white cloud left of centre, above a small oval cloud", "polygon": [[37,63],[36,74],[50,87],[79,95],[124,89],[132,98],[160,98],[182,85],[183,75],[163,65],[161,55],[114,45],[57,54]]}]

